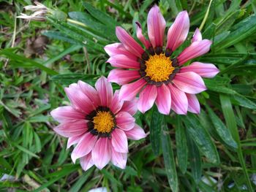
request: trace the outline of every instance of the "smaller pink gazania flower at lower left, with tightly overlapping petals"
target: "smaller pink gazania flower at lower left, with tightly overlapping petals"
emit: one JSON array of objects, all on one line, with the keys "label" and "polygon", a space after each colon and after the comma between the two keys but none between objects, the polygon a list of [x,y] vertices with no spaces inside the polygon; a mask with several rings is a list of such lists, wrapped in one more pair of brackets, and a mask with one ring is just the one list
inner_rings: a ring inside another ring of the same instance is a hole
[{"label": "smaller pink gazania flower at lower left, with tightly overlapping petals", "polygon": [[[96,89],[95,89],[96,88]],[[86,171],[95,165],[102,169],[109,161],[124,169],[127,164],[127,139],[146,137],[143,128],[135,123],[137,102],[120,101],[118,91],[105,77],[100,77],[95,88],[83,81],[65,88],[71,106],[58,107],[50,115],[60,125],[53,130],[68,137],[67,148],[75,145],[71,158],[80,158]]]}]

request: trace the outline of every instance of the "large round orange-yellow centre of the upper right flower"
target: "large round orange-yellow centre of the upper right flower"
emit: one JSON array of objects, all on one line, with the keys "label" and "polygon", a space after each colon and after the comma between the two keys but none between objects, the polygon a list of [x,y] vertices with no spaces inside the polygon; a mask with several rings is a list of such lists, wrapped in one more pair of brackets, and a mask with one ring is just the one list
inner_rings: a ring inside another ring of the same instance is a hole
[{"label": "large round orange-yellow centre of the upper right flower", "polygon": [[175,68],[172,66],[170,57],[166,57],[165,54],[151,55],[146,61],[146,76],[156,82],[162,82],[169,80],[169,75],[173,73]]}]

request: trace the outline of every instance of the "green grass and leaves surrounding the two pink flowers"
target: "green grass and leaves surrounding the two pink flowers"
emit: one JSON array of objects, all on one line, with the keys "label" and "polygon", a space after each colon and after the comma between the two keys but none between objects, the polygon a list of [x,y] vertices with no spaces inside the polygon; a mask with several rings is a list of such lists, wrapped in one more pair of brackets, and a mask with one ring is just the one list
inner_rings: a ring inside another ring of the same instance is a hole
[{"label": "green grass and leaves surrounding the two pink flowers", "polygon": [[[67,20],[55,15],[29,23],[15,17],[31,1],[0,1],[0,179],[14,177],[0,181],[0,191],[255,191],[256,2],[209,2],[46,0]],[[197,61],[221,72],[205,79],[208,90],[197,95],[200,115],[163,116],[156,107],[138,112],[137,123],[150,135],[129,141],[127,168],[109,164],[84,172],[72,164],[67,139],[53,132],[49,112],[69,104],[65,86],[78,80],[94,85],[108,75],[103,47],[117,42],[115,27],[135,37],[139,20],[146,31],[156,3],[167,27],[187,9],[189,38],[200,27],[203,38],[213,41],[211,52]]]}]

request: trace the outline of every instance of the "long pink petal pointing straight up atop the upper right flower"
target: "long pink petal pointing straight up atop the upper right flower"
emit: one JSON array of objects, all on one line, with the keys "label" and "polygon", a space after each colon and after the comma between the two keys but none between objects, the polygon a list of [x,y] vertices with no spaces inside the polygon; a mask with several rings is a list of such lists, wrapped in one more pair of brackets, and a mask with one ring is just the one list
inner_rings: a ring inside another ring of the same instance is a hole
[{"label": "long pink petal pointing straight up atop the upper right flower", "polygon": [[148,12],[148,38],[153,47],[162,47],[165,34],[165,18],[162,16],[159,7],[154,5]]}]

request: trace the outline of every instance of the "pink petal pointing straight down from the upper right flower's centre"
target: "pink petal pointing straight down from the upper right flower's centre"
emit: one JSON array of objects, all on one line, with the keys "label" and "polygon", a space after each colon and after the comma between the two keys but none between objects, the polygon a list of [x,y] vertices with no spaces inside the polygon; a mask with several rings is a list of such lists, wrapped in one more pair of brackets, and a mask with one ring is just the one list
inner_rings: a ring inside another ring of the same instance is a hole
[{"label": "pink petal pointing straight down from the upper right flower's centre", "polygon": [[160,113],[164,115],[168,115],[170,113],[171,96],[167,85],[162,84],[160,87],[157,87],[156,104]]}]

